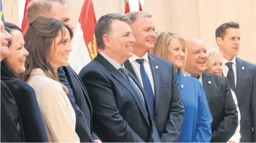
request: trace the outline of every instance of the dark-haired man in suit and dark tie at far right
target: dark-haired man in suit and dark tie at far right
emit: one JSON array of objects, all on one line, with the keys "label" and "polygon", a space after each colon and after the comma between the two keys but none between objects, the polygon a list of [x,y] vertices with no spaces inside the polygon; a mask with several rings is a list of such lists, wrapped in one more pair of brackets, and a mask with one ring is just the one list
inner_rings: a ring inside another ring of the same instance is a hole
[{"label": "dark-haired man in suit and dark tie at far right", "polygon": [[256,65],[240,59],[239,24],[227,22],[216,29],[216,42],[223,54],[223,75],[238,99],[241,112],[240,142],[256,142]]}]

